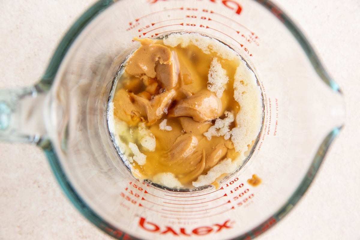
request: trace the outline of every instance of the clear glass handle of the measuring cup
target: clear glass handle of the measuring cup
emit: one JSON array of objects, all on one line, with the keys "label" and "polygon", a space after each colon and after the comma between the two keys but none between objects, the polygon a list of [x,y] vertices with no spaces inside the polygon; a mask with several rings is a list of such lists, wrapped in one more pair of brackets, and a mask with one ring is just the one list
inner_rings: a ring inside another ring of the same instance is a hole
[{"label": "clear glass handle of the measuring cup", "polygon": [[0,141],[39,144],[46,91],[39,85],[0,89]]}]

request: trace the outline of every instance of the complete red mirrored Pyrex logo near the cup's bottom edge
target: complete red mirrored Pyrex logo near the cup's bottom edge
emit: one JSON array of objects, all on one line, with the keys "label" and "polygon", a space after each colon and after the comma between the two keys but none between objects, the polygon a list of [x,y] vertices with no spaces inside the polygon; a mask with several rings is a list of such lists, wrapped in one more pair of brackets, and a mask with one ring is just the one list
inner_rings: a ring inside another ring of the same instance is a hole
[{"label": "complete red mirrored Pyrex logo near the cup's bottom edge", "polygon": [[148,232],[155,232],[158,234],[171,234],[172,236],[203,236],[208,235],[211,232],[216,233],[220,232],[223,229],[231,228],[230,220],[225,221],[222,224],[214,224],[212,226],[201,226],[196,228],[189,227],[160,227],[158,224],[149,222],[145,218],[141,217],[139,221],[139,226]]}]

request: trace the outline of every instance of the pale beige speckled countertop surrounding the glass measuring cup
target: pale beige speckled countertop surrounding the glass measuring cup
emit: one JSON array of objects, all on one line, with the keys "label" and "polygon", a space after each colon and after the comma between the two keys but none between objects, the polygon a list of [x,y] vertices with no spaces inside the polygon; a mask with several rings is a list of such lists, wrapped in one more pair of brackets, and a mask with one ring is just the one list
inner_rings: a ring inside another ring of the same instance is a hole
[{"label": "pale beige speckled countertop surrounding the glass measuring cup", "polygon": [[[0,87],[35,83],[64,32],[93,2],[0,1]],[[347,117],[305,196],[257,239],[359,240],[360,1],[275,2],[339,83]],[[0,153],[0,239],[111,239],[64,196],[39,148],[0,143]]]}]

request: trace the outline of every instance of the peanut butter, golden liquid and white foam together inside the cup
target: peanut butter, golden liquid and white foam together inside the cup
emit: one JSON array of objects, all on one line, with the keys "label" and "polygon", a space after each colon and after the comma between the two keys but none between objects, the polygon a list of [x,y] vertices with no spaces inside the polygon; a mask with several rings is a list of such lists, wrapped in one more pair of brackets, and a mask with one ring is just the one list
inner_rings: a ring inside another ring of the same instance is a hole
[{"label": "peanut butter, golden liquid and white foam together inside the cup", "polygon": [[[194,33],[136,40],[141,46],[124,64],[111,105],[114,134],[134,176],[192,188],[235,171],[262,120],[261,92],[246,63],[224,44]],[[240,67],[246,74],[239,75]],[[236,97],[239,82],[248,100]],[[242,117],[255,119],[241,126]]]}]

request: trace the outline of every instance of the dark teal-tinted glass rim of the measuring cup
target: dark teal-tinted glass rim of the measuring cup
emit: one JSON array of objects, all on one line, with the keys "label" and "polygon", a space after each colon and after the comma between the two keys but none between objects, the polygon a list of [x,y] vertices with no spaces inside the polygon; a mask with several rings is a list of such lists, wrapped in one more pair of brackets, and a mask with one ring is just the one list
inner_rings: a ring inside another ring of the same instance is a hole
[{"label": "dark teal-tinted glass rim of the measuring cup", "polygon": [[[103,12],[103,10],[107,9],[113,3],[120,0],[99,0],[94,5],[92,5],[85,13],[83,13],[77,21],[69,28],[69,30],[64,35],[63,39],[60,41],[57,49],[54,51],[54,54],[49,62],[48,67],[46,68],[45,73],[43,74],[39,85],[44,90],[49,90],[59,66],[66,55],[68,49],[71,47],[72,43],[75,41],[76,37],[82,32],[82,30],[89,24],[98,14]],[[305,38],[303,33],[299,30],[299,28],[291,21],[291,19],[276,6],[272,1],[269,0],[252,0],[255,1],[262,6],[264,6],[267,10],[269,10],[276,18],[279,19],[281,23],[287,27],[287,29],[292,33],[292,35],[296,38],[298,43],[301,45],[303,51],[306,53],[309,58],[312,67],[315,69],[316,73],[319,75],[321,80],[323,80],[331,89],[336,92],[341,93],[338,84],[330,78],[329,74],[325,71],[323,65],[320,63],[318,56],[316,55],[314,49],[311,47],[309,41]],[[274,226],[277,222],[279,222],[287,213],[294,207],[294,205],[301,199],[301,197],[305,194],[306,190],[309,188],[312,180],[316,173],[319,170],[321,163],[327,153],[327,150],[334,140],[334,138],[339,134],[341,127],[334,128],[328,135],[325,137],[323,142],[321,143],[317,153],[315,154],[310,168],[308,169],[306,175],[303,177],[300,185],[294,191],[294,193],[290,196],[290,198],[280,207],[271,217],[269,217],[266,221],[262,222],[257,227],[248,231],[245,234],[237,236],[232,240],[245,240],[245,239],[253,239],[257,237],[261,233],[265,232],[272,226]],[[95,226],[103,230],[108,235],[115,237],[116,239],[138,239],[134,236],[127,234],[125,231],[117,229],[112,226],[110,223],[104,221],[97,213],[95,213],[86,203],[81,199],[81,197],[77,194],[75,189],[72,187],[69,182],[66,174],[61,166],[59,158],[55,152],[55,148],[52,145],[50,139],[46,139],[42,141],[40,147],[44,150],[46,157],[49,160],[50,167],[57,179],[60,187],[66,194],[67,198],[72,202],[72,204],[77,208],[77,210],[86,217],[91,223]]]}]

